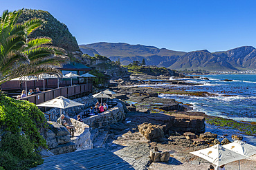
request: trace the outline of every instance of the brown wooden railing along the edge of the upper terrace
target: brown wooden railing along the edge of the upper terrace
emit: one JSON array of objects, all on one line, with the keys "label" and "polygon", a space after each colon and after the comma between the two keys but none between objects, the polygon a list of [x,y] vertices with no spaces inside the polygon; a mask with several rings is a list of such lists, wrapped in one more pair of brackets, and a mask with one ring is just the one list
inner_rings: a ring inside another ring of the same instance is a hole
[{"label": "brown wooden railing along the edge of the upper terrace", "polygon": [[34,94],[24,98],[19,98],[19,100],[27,100],[30,103],[34,103],[35,105],[38,105],[40,103],[51,100],[58,96],[64,96],[68,98],[68,97],[79,95],[79,94],[85,94],[86,92],[91,92],[92,89],[93,89],[93,85],[91,83],[82,84],[82,85],[73,85],[68,87],[59,87],[57,89],[50,89],[46,92],[42,92],[39,94]]}]

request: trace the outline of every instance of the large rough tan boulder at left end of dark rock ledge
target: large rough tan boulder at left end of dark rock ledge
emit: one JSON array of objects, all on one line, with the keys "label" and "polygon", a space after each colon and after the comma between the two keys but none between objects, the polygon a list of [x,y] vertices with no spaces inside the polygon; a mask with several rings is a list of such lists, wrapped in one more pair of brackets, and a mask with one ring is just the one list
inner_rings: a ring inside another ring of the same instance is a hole
[{"label": "large rough tan boulder at left end of dark rock ledge", "polygon": [[149,140],[163,140],[164,132],[159,125],[152,125],[151,123],[143,123],[138,125],[138,131]]}]

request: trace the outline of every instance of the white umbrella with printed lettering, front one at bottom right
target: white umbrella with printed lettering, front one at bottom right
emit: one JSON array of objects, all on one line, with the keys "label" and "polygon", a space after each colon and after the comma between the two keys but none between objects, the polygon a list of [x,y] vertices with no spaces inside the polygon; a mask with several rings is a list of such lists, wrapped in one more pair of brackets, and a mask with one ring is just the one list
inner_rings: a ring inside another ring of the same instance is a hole
[{"label": "white umbrella with printed lettering, front one at bottom right", "polygon": [[219,144],[190,153],[212,162],[212,164],[215,164],[217,167],[229,162],[248,158],[247,156],[243,156],[235,151],[230,151],[229,149],[221,147]]}]

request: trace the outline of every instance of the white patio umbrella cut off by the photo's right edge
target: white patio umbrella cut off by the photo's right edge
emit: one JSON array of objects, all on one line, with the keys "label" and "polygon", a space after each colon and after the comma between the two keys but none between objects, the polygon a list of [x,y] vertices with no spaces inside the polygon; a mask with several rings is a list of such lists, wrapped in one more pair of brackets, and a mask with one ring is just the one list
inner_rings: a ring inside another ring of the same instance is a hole
[{"label": "white patio umbrella cut off by the photo's right edge", "polygon": [[[231,151],[235,151],[236,153],[239,153],[243,156],[253,156],[254,154],[256,154],[255,146],[249,145],[248,143],[241,140],[235,140],[235,142],[223,145],[223,147]],[[240,169],[240,161],[238,165],[238,169]]]}]

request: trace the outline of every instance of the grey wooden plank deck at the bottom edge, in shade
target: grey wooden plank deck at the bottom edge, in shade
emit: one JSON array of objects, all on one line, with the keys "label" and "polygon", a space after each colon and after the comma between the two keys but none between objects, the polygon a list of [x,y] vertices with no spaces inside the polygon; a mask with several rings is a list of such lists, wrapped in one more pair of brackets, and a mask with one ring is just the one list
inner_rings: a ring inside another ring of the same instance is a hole
[{"label": "grey wooden plank deck at the bottom edge, in shade", "polygon": [[104,148],[95,148],[44,158],[44,163],[33,168],[33,170],[35,169],[132,170],[134,168],[111,151]]}]

